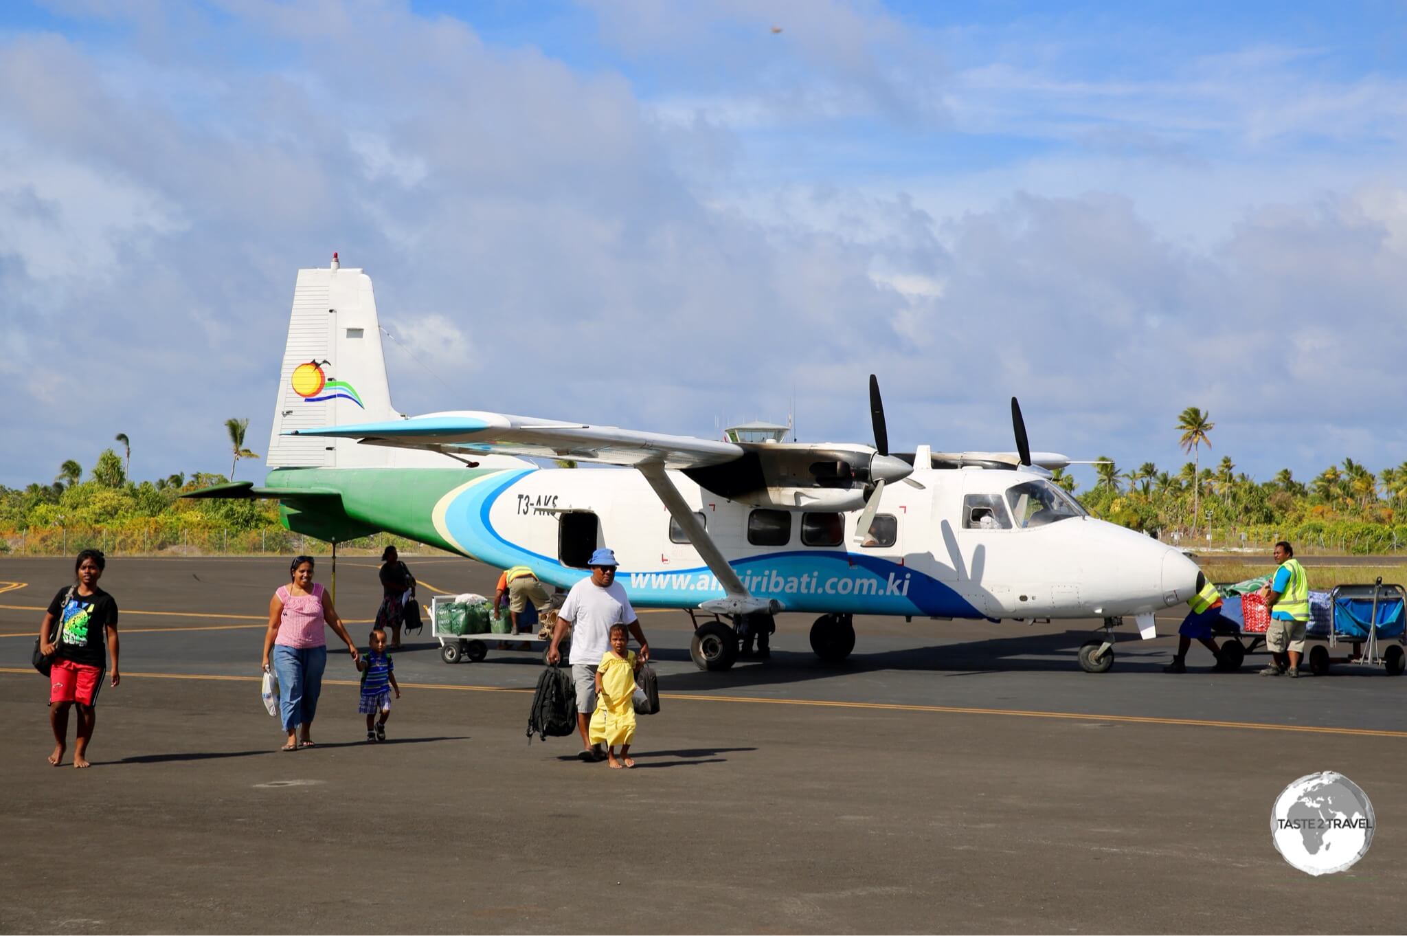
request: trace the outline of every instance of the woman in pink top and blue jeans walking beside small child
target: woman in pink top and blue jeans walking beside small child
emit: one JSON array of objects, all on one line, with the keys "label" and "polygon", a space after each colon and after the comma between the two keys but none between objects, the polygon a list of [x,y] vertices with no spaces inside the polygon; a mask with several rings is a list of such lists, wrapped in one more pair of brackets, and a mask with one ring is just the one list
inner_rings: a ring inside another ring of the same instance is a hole
[{"label": "woman in pink top and blue jeans walking beside small child", "polygon": [[283,729],[288,732],[283,750],[295,750],[312,747],[312,716],[318,712],[322,670],[328,664],[324,625],[336,631],[348,645],[353,663],[357,652],[332,607],[332,598],[312,581],[312,556],[295,557],[288,566],[288,577],[291,581],[280,586],[269,601],[263,669],[272,664],[279,677],[279,709]]}]

